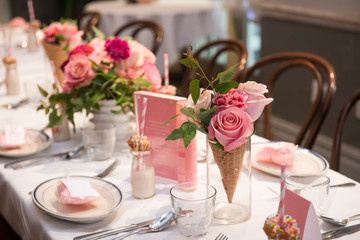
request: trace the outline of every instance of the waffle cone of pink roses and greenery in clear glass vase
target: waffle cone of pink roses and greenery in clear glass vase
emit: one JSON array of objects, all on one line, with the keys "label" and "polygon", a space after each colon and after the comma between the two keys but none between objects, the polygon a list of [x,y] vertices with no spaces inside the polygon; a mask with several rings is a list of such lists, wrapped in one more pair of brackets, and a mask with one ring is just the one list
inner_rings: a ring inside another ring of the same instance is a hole
[{"label": "waffle cone of pink roses and greenery in clear glass vase", "polygon": [[[226,210],[217,211],[215,208],[214,218],[225,219],[223,223],[236,223],[237,218],[241,217],[241,210],[236,206],[243,204],[241,201],[250,201],[241,200],[241,196],[238,198],[235,193],[242,191],[241,194],[244,195],[245,192],[237,188],[243,187],[239,184],[239,176],[244,168],[244,158],[250,162],[249,140],[254,133],[254,122],[273,99],[264,96],[267,88],[263,84],[231,81],[236,66],[209,79],[191,52],[188,51],[186,55],[180,63],[195,69],[198,79],[190,82],[190,95],[180,110],[186,115],[187,121],[170,133],[166,140],[182,138],[186,147],[197,131],[207,135],[226,193],[226,203],[221,205]],[[201,80],[207,82],[206,88],[200,88]],[[219,198],[220,195],[218,194]],[[249,198],[250,196],[251,194]],[[234,216],[234,219],[227,219],[229,216]]]}]

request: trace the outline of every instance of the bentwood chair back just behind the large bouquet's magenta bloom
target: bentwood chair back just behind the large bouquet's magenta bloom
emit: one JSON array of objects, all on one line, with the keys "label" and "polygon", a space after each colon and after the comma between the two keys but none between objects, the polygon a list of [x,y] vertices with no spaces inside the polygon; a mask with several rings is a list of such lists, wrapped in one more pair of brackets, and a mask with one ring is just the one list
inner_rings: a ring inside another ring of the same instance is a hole
[{"label": "bentwood chair back just behind the large bouquet's magenta bloom", "polygon": [[139,40],[138,37],[140,33],[150,32],[153,37],[152,45],[149,49],[156,55],[156,52],[159,50],[159,47],[164,38],[164,31],[160,24],[152,20],[133,20],[125,25],[118,28],[114,36],[131,36],[136,40]]}]

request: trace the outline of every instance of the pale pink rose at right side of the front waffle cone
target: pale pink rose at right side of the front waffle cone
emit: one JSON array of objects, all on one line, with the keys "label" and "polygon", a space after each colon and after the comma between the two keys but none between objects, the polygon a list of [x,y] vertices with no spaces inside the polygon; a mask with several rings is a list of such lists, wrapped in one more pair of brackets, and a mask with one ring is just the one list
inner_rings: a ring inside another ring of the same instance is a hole
[{"label": "pale pink rose at right side of the front waffle cone", "polygon": [[253,121],[256,121],[264,111],[264,107],[274,100],[273,98],[265,98],[264,94],[268,90],[266,85],[261,83],[253,81],[240,83],[238,89],[246,92],[248,95],[246,112]]}]

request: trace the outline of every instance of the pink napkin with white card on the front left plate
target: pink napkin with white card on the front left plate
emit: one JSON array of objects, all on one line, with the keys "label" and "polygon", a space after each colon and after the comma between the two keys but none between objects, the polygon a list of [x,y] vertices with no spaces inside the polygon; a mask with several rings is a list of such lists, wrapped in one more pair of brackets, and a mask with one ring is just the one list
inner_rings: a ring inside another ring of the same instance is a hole
[{"label": "pink napkin with white card on the front left plate", "polygon": [[91,203],[100,198],[90,183],[84,180],[61,180],[55,194],[59,202],[72,205]]}]

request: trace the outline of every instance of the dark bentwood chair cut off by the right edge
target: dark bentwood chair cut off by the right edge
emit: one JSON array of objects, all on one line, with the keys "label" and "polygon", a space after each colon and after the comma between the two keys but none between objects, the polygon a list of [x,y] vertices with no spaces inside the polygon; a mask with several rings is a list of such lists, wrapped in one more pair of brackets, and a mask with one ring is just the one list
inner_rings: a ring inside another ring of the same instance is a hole
[{"label": "dark bentwood chair cut off by the right edge", "polygon": [[332,151],[331,151],[331,163],[330,168],[335,171],[340,170],[340,152],[341,152],[341,143],[342,135],[344,130],[344,125],[350,111],[354,108],[355,104],[360,100],[360,89],[355,91],[343,105],[336,123],[336,129],[333,139]]}]

